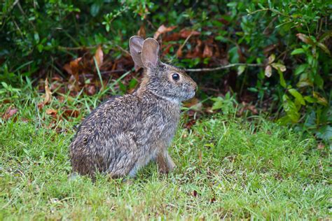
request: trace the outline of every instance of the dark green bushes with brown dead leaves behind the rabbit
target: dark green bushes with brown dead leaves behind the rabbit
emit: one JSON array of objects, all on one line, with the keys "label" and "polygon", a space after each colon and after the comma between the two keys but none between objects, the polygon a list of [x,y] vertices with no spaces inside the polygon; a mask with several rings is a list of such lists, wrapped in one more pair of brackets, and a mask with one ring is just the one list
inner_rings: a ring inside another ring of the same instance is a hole
[{"label": "dark green bushes with brown dead leaves behind the rabbit", "polygon": [[331,141],[331,16],[328,1],[5,0],[1,115],[16,113],[22,85],[45,94],[39,108],[51,96],[132,92],[141,71],[133,69],[128,40],[154,36],[162,61],[198,82],[188,115],[265,113]]}]

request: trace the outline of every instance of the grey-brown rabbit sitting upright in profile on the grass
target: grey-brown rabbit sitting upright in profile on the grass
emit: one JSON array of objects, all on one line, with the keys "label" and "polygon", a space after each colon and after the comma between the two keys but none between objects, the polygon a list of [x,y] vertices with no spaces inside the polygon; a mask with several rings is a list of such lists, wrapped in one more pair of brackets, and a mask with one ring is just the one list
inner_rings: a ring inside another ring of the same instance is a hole
[{"label": "grey-brown rabbit sitting upright in profile on the grass", "polygon": [[70,144],[73,173],[106,173],[134,178],[155,160],[160,173],[174,169],[167,151],[177,130],[181,101],[195,96],[197,85],[183,70],[158,59],[154,38],[130,38],[134,64],[144,68],[136,92],[105,101],[78,127]]}]

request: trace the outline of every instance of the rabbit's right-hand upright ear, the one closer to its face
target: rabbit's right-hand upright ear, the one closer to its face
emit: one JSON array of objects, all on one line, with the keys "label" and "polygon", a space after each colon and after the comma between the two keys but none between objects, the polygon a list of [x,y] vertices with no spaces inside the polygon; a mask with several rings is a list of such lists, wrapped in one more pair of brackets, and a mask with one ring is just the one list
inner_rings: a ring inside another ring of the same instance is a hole
[{"label": "rabbit's right-hand upright ear, the one closer to its face", "polygon": [[146,38],[141,50],[141,62],[145,67],[155,67],[158,63],[159,43],[154,38]]}]

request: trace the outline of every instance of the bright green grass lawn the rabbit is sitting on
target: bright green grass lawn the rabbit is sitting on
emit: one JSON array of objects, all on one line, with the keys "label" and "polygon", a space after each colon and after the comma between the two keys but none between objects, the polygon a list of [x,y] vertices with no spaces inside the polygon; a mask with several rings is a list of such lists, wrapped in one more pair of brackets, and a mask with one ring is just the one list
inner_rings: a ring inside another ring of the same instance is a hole
[{"label": "bright green grass lawn the rabbit is sitting on", "polygon": [[[149,164],[130,183],[69,180],[74,125],[97,97],[53,98],[38,110],[36,92],[8,94],[0,113],[11,105],[19,113],[0,122],[0,220],[331,218],[328,148],[261,117],[214,115],[179,128],[170,148],[177,169],[168,175]],[[78,118],[46,114],[74,107]]]}]

